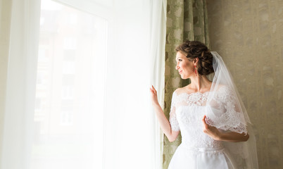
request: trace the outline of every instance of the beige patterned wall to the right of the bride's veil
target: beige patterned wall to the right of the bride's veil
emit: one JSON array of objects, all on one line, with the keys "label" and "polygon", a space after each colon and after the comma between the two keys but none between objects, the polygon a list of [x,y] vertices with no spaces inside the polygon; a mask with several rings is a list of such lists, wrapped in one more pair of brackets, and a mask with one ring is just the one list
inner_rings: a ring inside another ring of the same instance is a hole
[{"label": "beige patterned wall to the right of the bride's veil", "polygon": [[283,168],[283,1],[208,0],[210,44],[255,125],[259,168]]}]

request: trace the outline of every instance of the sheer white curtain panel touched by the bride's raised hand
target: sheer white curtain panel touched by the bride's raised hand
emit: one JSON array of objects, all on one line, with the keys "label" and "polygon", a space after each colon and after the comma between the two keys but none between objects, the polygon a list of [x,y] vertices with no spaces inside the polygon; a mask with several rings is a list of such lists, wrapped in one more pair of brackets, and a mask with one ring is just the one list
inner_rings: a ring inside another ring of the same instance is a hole
[{"label": "sheer white curtain panel touched by the bride's raised hand", "polygon": [[156,87],[162,103],[165,1],[119,1],[117,5],[125,4],[127,10],[115,11],[119,34],[108,65],[106,115],[111,120],[106,128],[106,168],[161,168],[163,140],[149,87]]}]

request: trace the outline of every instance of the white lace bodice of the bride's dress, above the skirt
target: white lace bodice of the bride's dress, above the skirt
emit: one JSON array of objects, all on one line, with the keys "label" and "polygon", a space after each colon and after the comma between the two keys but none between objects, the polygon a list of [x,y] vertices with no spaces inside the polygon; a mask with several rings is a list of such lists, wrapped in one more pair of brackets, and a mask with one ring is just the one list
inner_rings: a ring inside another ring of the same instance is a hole
[{"label": "white lace bodice of the bride's dress, above the skirt", "polygon": [[183,146],[189,148],[222,146],[221,142],[215,141],[203,132],[201,120],[205,115],[208,93],[173,93],[170,125],[174,131],[181,130]]}]

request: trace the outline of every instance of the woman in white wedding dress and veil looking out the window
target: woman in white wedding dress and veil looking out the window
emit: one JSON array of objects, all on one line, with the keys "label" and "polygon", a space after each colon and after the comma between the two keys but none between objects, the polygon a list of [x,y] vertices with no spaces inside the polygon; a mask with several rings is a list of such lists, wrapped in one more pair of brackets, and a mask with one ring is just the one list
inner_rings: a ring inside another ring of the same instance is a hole
[{"label": "woman in white wedding dress and veil looking out the window", "polygon": [[[249,116],[222,58],[201,42],[186,41],[176,51],[176,70],[191,84],[173,92],[169,121],[151,87],[166,137],[173,142],[182,131],[169,168],[258,168],[254,137],[247,130]],[[212,82],[206,77],[210,73],[215,73]]]}]

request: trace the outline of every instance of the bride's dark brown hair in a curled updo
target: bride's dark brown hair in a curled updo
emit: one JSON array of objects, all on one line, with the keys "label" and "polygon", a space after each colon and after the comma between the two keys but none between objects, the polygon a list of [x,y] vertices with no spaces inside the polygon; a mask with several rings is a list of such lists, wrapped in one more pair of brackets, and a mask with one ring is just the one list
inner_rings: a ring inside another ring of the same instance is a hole
[{"label": "bride's dark brown hair in a curled updo", "polygon": [[175,49],[184,54],[189,61],[194,61],[195,58],[199,58],[199,62],[196,65],[199,75],[209,75],[213,73],[213,55],[210,53],[208,47],[199,41],[186,40]]}]

